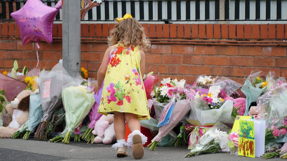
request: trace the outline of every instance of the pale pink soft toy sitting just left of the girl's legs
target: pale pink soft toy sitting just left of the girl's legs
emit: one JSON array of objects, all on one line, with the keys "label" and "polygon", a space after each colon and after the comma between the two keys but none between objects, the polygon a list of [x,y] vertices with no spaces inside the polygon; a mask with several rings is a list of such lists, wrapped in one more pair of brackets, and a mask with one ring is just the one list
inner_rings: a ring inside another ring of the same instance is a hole
[{"label": "pale pink soft toy sitting just left of the girl's legs", "polygon": [[94,143],[100,144],[111,144],[116,140],[116,133],[114,130],[114,115],[108,114],[107,116],[103,115],[96,122],[95,128],[92,131],[96,138],[94,139]]}]

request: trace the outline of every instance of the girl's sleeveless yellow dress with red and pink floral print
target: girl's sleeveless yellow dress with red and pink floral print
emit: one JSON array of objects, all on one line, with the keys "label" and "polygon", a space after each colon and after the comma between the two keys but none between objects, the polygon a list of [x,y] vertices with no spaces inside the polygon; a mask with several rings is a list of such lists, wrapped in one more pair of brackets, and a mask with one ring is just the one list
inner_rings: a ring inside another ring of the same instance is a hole
[{"label": "girl's sleeveless yellow dress with red and pink floral print", "polygon": [[140,62],[139,48],[124,49],[117,44],[111,50],[99,113],[127,112],[138,115],[139,120],[150,119]]}]

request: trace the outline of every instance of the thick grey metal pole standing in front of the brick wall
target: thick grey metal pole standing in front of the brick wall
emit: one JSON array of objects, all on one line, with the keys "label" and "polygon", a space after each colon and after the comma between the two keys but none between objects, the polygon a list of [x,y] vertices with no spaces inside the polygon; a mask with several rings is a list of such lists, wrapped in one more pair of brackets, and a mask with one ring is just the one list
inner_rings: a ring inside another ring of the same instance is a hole
[{"label": "thick grey metal pole standing in front of the brick wall", "polygon": [[63,0],[63,67],[76,77],[81,71],[81,17],[79,0]]}]

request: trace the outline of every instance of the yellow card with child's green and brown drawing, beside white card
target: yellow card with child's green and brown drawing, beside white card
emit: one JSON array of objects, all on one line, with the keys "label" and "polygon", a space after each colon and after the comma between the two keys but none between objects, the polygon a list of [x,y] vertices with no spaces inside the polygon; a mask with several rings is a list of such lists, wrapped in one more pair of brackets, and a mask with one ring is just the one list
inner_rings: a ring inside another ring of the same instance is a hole
[{"label": "yellow card with child's green and brown drawing, beside white card", "polygon": [[239,120],[238,155],[255,158],[254,122]]}]

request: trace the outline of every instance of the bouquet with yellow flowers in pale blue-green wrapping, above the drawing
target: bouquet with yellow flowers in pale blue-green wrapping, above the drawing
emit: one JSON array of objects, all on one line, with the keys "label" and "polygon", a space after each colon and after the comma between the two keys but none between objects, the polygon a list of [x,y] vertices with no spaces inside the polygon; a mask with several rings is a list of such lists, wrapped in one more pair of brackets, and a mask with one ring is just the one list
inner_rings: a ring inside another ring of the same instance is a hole
[{"label": "bouquet with yellow flowers in pale blue-green wrapping, above the drawing", "polygon": [[[241,91],[246,96],[246,109],[244,115],[248,115],[251,103],[256,102],[258,97],[269,91],[273,84],[275,84],[273,78],[274,72],[269,72],[267,76],[264,76],[262,71],[255,70],[251,72],[241,88]],[[265,82],[262,82],[262,80]]]}]

